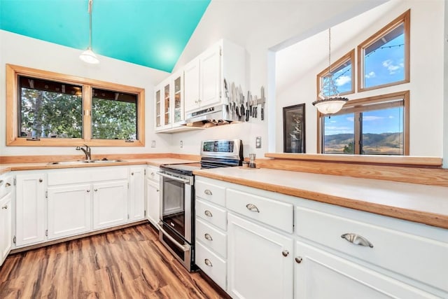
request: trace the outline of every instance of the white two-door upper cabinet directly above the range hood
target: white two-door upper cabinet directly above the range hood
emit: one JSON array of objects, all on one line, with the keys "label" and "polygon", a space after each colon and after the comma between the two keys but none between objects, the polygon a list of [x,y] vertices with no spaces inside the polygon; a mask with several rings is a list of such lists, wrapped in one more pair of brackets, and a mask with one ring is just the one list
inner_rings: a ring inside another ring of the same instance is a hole
[{"label": "white two-door upper cabinet directly above the range hood", "polygon": [[188,63],[184,68],[185,111],[189,113],[225,104],[224,78],[246,87],[244,48],[221,40]]}]

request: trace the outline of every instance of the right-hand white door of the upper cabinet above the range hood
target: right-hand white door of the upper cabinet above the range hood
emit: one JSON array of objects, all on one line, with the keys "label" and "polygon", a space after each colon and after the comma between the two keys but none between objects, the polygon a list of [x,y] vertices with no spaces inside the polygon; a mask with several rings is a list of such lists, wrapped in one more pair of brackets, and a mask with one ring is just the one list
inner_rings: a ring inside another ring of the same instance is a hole
[{"label": "right-hand white door of the upper cabinet above the range hood", "polygon": [[200,106],[221,102],[221,47],[215,46],[200,57]]}]

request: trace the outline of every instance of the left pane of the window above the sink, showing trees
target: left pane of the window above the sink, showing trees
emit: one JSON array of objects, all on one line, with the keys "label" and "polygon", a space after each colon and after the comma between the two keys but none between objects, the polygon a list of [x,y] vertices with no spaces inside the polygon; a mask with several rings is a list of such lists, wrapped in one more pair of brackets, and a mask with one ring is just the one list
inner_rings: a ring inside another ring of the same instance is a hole
[{"label": "left pane of the window above the sink, showing trees", "polygon": [[83,88],[19,76],[19,137],[82,138]]}]

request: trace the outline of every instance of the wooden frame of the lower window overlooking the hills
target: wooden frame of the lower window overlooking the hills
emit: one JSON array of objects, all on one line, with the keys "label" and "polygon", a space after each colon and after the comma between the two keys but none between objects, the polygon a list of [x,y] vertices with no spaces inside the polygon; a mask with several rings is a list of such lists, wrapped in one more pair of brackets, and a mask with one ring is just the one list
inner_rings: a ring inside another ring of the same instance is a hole
[{"label": "wooden frame of the lower window overlooking the hills", "polygon": [[[352,99],[347,102],[342,109],[332,114],[332,116],[337,116],[340,114],[346,113],[360,113],[365,111],[376,110],[376,108],[381,105],[384,109],[388,108],[388,106],[396,106],[391,103],[391,101],[402,99],[402,107],[403,107],[403,156],[409,155],[409,90],[402,92],[393,92],[387,95],[378,95],[375,97],[366,97],[362,99]],[[375,109],[368,109],[368,106],[375,107]],[[401,105],[400,105],[401,106]],[[323,152],[323,122],[325,118],[325,114],[317,112],[317,151],[318,153]],[[346,154],[346,155],[361,155],[360,154],[360,126],[356,125],[355,122],[354,127],[354,144],[355,153]],[[325,154],[329,155],[329,154]],[[339,154],[335,154],[339,155]],[[374,155],[381,156],[381,155]]]}]

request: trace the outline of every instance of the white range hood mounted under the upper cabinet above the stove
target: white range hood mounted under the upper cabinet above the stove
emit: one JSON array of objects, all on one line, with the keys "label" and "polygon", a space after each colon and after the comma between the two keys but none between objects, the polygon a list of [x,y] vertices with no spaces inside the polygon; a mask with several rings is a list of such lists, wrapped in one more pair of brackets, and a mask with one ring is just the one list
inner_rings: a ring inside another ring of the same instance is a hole
[{"label": "white range hood mounted under the upper cabinet above the stove", "polygon": [[232,113],[228,105],[218,105],[200,111],[187,113],[186,121],[182,124],[187,127],[216,127],[241,123],[237,113]]}]

